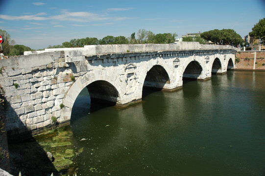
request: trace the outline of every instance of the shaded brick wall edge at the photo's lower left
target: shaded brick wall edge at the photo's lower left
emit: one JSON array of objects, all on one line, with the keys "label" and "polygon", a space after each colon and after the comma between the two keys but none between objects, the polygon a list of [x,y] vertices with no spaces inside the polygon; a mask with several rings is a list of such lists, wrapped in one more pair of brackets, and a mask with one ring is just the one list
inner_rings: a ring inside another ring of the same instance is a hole
[{"label": "shaded brick wall edge at the photo's lower left", "polygon": [[0,86],[0,168],[10,172],[7,134],[5,130],[4,91]]}]

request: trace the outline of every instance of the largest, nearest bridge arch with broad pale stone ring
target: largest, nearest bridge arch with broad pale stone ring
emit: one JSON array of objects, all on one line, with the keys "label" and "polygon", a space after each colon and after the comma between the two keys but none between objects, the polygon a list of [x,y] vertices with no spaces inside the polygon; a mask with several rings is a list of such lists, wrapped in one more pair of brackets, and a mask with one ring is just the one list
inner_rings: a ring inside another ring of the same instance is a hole
[{"label": "largest, nearest bridge arch with broad pale stone ring", "polygon": [[80,76],[72,84],[64,96],[63,104],[65,107],[62,109],[59,122],[70,121],[72,106],[76,100],[76,97],[85,87],[88,88],[90,94],[92,93],[92,98],[98,98],[113,103],[122,104],[123,100],[122,96],[120,95],[124,94],[125,90],[121,89],[121,86],[118,84],[118,82],[120,83],[118,76],[112,74],[109,71],[101,69],[94,70],[94,72],[87,72],[83,76]]}]

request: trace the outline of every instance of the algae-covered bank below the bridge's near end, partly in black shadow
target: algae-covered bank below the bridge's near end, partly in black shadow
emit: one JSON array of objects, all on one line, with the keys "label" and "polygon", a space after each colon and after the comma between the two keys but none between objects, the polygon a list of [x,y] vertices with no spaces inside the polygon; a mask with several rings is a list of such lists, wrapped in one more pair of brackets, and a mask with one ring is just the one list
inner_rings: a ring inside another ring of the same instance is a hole
[{"label": "algae-covered bank below the bridge's near end, partly in black shadow", "polygon": [[[62,127],[9,145],[11,173],[18,176],[72,175],[77,170],[74,158],[82,152],[73,144],[71,127]],[[47,152],[53,154],[50,162]]]}]

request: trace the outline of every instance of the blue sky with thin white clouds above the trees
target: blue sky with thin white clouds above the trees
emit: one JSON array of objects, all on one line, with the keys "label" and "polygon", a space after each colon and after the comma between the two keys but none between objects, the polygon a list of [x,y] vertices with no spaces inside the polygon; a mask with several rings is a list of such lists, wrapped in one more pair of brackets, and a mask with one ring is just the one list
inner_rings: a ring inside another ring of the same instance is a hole
[{"label": "blue sky with thin white clouds above the trees", "polygon": [[0,0],[0,29],[33,49],[71,39],[234,29],[243,37],[265,17],[265,0]]}]

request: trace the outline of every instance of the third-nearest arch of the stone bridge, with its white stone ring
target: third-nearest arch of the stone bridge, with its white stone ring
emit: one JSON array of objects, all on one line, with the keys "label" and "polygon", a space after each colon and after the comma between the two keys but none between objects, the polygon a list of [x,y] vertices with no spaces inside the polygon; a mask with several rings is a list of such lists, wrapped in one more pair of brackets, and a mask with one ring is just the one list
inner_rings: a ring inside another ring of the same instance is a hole
[{"label": "third-nearest arch of the stone bridge, with its white stone ring", "polygon": [[201,58],[189,57],[183,64],[182,79],[205,79],[205,62]]}]

